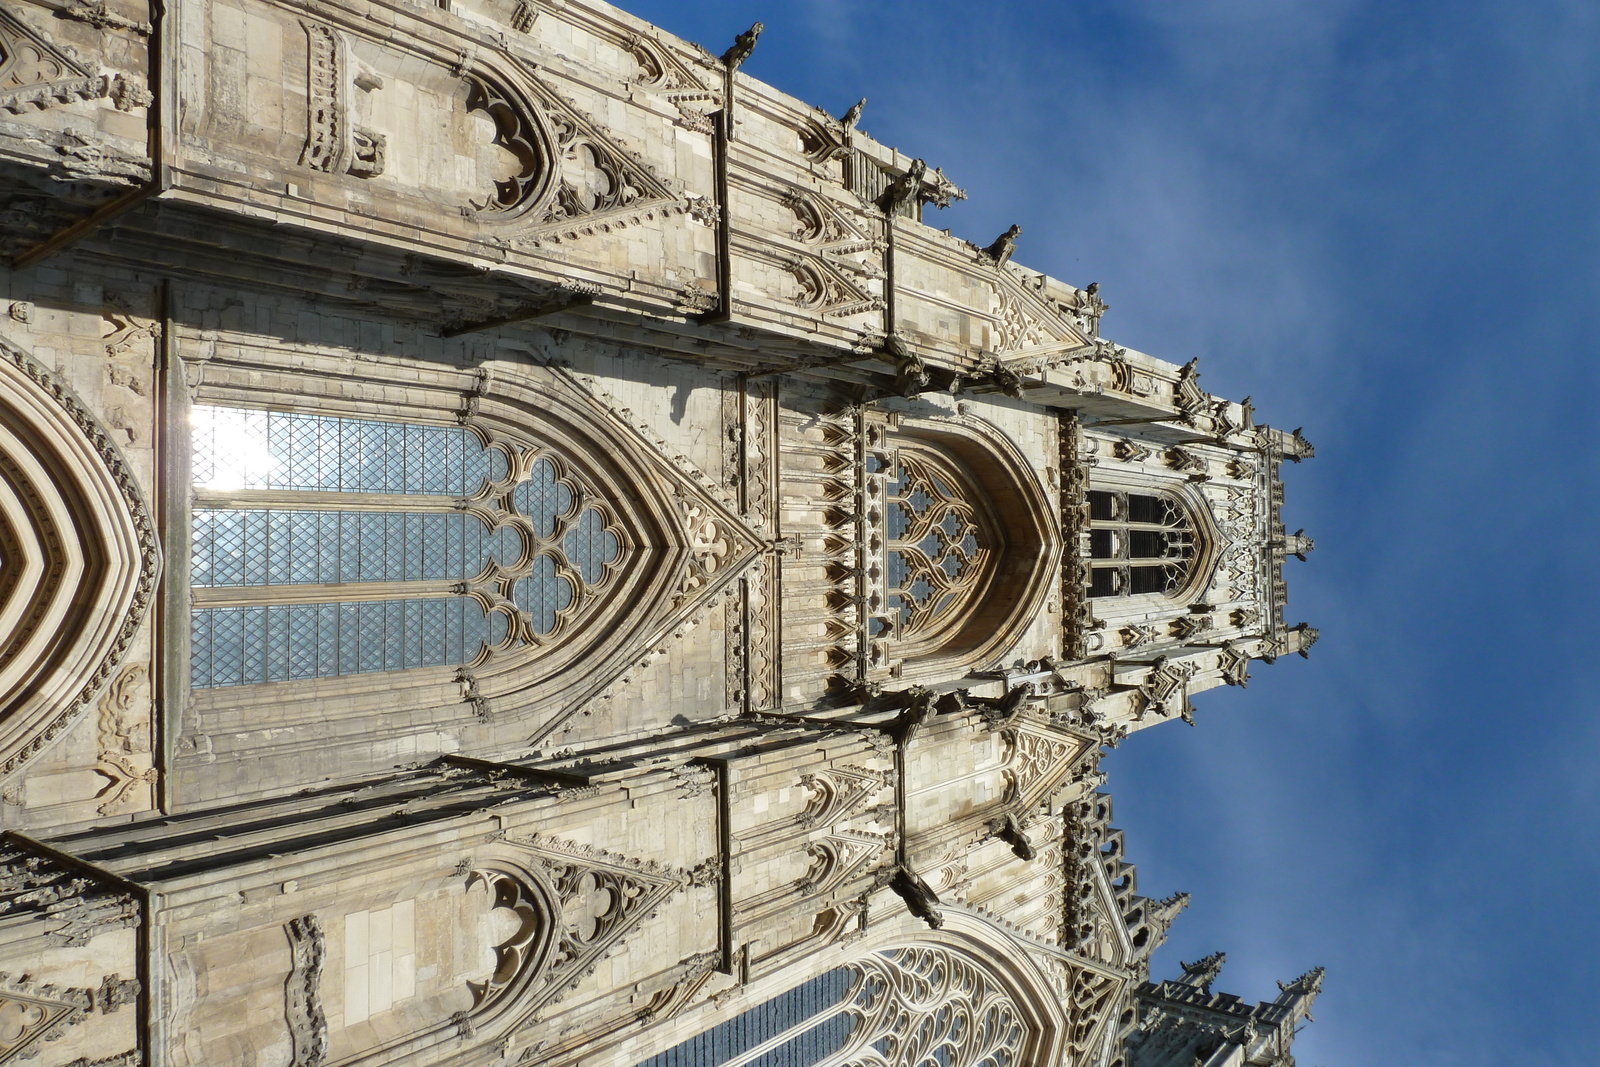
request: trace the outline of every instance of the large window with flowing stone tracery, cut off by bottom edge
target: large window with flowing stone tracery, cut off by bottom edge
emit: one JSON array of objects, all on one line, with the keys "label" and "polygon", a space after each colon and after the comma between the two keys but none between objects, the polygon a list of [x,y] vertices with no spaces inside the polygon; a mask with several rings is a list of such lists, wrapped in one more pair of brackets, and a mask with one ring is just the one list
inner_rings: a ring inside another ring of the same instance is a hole
[{"label": "large window with flowing stone tracery, cut off by bottom edge", "polygon": [[640,1067],[1003,1067],[1037,1033],[973,960],[880,952],[818,976]]}]

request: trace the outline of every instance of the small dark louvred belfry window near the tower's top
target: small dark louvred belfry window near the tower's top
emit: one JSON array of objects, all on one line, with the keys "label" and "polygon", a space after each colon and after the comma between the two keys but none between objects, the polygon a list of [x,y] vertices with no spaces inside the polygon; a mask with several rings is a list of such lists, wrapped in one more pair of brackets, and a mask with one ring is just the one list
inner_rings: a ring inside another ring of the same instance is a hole
[{"label": "small dark louvred belfry window near the tower's top", "polygon": [[1176,595],[1189,584],[1195,533],[1166,496],[1091,490],[1090,597]]}]

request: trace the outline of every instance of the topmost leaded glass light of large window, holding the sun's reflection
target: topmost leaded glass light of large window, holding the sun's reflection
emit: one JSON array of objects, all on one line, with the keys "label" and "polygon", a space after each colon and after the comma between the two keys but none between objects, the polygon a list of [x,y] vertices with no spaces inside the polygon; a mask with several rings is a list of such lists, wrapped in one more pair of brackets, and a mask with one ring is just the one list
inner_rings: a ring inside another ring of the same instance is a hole
[{"label": "topmost leaded glass light of large window, holding the sun's reflection", "polygon": [[200,405],[195,485],[470,496],[506,477],[506,458],[456,426],[411,426]]}]

